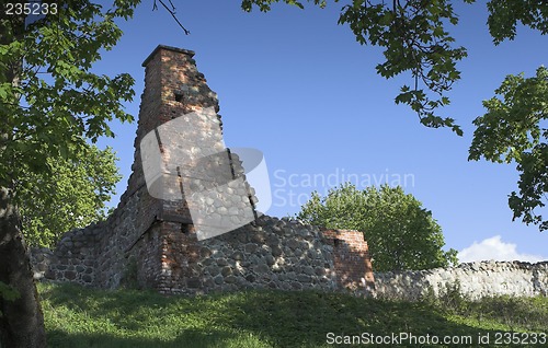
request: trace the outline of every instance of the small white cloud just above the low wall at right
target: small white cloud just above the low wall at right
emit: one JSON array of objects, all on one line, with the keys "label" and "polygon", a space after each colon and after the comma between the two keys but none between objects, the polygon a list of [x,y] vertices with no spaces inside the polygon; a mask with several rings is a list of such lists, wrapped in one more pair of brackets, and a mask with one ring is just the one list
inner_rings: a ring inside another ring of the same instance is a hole
[{"label": "small white cloud just above the low wall at right", "polygon": [[472,245],[465,247],[458,253],[458,260],[461,263],[479,260],[521,260],[537,263],[546,260],[548,257],[540,255],[521,254],[516,251],[516,245],[504,243],[500,235],[483,240],[480,243],[473,242]]}]

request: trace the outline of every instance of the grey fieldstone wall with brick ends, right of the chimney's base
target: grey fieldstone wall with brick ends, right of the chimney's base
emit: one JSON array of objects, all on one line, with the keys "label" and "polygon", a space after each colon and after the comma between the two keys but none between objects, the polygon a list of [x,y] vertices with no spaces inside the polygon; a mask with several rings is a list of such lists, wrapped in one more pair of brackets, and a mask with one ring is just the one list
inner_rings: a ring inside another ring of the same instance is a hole
[{"label": "grey fieldstone wall with brick ends, right of the chimney's base", "polygon": [[[364,281],[373,279],[373,274],[365,268],[364,245],[351,245],[356,235],[363,241],[357,231],[322,231],[267,216],[199,242],[192,233],[168,234],[162,255],[164,278],[158,290],[191,294],[254,288],[365,290]],[[335,243],[345,245],[344,251]],[[356,263],[338,265],[341,256],[354,257]]]}]

